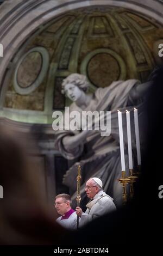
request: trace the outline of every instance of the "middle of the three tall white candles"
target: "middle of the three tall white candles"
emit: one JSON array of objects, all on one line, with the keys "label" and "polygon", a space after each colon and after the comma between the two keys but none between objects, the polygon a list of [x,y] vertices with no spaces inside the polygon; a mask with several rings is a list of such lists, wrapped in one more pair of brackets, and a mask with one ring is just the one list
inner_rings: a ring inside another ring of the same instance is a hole
[{"label": "middle of the three tall white candles", "polygon": [[129,169],[133,169],[133,156],[132,156],[132,146],[131,146],[131,125],[130,125],[130,112],[126,111],[127,120],[127,142],[128,142],[128,159],[129,159]]}]

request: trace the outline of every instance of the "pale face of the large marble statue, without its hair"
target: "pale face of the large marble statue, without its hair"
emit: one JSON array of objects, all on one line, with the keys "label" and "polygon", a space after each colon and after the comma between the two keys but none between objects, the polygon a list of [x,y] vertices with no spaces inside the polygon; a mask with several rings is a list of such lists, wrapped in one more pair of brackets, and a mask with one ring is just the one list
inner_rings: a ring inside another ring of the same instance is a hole
[{"label": "pale face of the large marble statue, without its hair", "polygon": [[82,90],[80,90],[77,86],[72,83],[67,83],[65,88],[65,93],[70,100],[76,101],[82,95]]}]

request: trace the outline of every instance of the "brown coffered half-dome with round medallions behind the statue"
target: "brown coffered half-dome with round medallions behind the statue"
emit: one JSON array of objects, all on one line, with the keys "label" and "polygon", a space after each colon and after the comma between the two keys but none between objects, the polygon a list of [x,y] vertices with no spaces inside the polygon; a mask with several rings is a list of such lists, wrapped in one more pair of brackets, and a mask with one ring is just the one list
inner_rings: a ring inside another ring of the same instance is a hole
[{"label": "brown coffered half-dome with round medallions behind the statue", "polygon": [[145,82],[161,61],[162,40],[162,25],[128,9],[91,7],[55,17],[13,57],[4,109],[14,120],[52,123],[53,111],[71,103],[61,94],[66,76],[85,74],[91,92],[116,80]]}]

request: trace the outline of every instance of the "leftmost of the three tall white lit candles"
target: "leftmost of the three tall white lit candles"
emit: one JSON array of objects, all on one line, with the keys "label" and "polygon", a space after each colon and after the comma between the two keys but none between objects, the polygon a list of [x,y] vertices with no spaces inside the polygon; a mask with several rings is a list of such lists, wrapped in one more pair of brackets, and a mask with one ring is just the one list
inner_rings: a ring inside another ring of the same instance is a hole
[{"label": "leftmost of the three tall white lit candles", "polygon": [[122,127],[121,111],[118,111],[118,126],[119,126],[119,135],[120,135],[121,167],[122,167],[122,170],[126,170],[125,161],[124,161],[123,127]]}]

